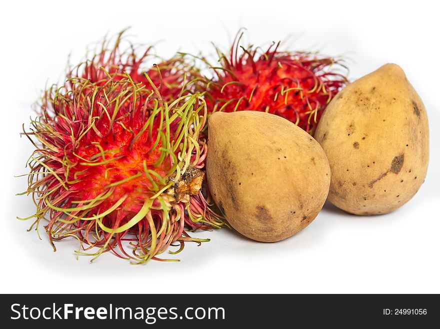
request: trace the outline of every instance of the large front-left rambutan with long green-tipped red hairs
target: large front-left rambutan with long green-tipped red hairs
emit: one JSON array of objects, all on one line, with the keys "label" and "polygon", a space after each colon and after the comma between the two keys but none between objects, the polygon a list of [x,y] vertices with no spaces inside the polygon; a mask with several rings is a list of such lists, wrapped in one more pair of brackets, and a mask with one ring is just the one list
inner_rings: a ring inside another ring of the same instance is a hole
[{"label": "large front-left rambutan with long green-tipped red hairs", "polygon": [[[143,263],[173,242],[178,252],[184,241],[206,241],[188,231],[224,222],[200,191],[204,100],[195,94],[170,102],[173,92],[167,99],[147,74],[134,82],[115,65],[114,74],[88,66],[44,94],[41,116],[24,132],[35,146],[27,194],[37,211],[21,219],[35,218],[36,230],[47,220],[54,250],[54,241],[74,237],[78,254],[111,251]],[[86,251],[92,247],[99,249]]]}]

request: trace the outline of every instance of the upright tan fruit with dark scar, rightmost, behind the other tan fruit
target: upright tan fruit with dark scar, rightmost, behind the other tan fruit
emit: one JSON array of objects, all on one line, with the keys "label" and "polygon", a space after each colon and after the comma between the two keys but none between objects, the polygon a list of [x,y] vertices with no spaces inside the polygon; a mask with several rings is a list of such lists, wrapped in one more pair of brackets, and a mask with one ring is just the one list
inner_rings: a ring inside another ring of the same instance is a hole
[{"label": "upright tan fruit with dark scar, rightmost, behind the other tan fruit", "polygon": [[349,213],[393,211],[412,198],[426,175],[426,111],[395,64],[339,92],[314,137],[330,164],[328,199]]}]

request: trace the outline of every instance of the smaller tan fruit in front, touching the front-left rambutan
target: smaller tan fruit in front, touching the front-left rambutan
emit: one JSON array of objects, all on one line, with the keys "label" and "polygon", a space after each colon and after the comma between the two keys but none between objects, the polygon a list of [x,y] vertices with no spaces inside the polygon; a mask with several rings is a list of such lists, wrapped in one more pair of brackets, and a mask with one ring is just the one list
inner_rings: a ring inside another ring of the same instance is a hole
[{"label": "smaller tan fruit in front, touching the front-left rambutan", "polygon": [[319,144],[293,123],[264,112],[213,113],[206,176],[215,203],[248,238],[274,242],[321,210],[330,171]]}]

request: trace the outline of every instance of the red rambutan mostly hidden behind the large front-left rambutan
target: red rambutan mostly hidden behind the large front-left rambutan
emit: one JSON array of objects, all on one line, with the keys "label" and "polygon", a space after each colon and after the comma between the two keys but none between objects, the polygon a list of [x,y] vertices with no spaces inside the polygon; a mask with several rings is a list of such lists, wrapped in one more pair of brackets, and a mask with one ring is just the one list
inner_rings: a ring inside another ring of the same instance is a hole
[{"label": "red rambutan mostly hidden behind the large front-left rambutan", "polygon": [[[161,59],[151,54],[151,46],[132,44],[128,38],[124,38],[125,32],[119,32],[115,38],[104,38],[91,55],[86,54],[82,63],[69,67],[66,72],[67,85],[71,79],[80,77],[95,86],[102,86],[109,78],[112,81],[124,80],[128,74],[134,84],[140,83],[149,89],[147,75],[157,87],[162,101],[169,103],[182,95],[194,93],[190,82],[198,78],[199,73],[193,63],[179,54],[171,59]],[[48,108],[39,114],[47,120],[54,115]]]}]

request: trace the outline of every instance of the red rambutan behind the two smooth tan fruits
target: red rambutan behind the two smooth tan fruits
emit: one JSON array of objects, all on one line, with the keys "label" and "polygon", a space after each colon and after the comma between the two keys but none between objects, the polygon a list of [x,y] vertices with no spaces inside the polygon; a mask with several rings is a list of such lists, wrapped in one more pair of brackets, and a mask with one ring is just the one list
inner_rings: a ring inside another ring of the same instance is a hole
[{"label": "red rambutan behind the two smooth tan fruits", "polygon": [[259,47],[241,46],[241,37],[237,34],[229,55],[217,49],[220,66],[211,66],[214,77],[201,87],[208,111],[268,112],[313,134],[325,107],[347,83],[345,66],[317,53],[279,51],[279,43],[258,54]]}]

